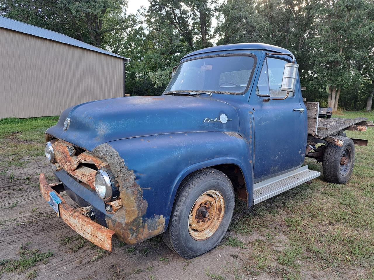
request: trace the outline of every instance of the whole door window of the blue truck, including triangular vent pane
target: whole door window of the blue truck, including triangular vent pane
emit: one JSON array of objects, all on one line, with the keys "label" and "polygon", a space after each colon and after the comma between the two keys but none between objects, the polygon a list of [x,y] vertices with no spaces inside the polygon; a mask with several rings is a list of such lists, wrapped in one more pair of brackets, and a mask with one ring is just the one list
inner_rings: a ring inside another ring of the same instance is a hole
[{"label": "whole door window of the blue truck, including triangular vent pane", "polygon": [[[261,69],[256,93],[259,96],[285,97],[287,91],[281,90],[284,65],[283,59],[267,57]],[[293,92],[289,96],[294,96]]]}]

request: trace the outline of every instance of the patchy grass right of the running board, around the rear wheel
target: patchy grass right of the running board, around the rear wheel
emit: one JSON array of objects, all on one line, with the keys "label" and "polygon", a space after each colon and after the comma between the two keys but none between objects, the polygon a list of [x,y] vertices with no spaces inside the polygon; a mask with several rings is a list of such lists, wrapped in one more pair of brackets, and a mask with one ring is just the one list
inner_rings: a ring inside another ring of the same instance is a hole
[{"label": "patchy grass right of the running board, around the rear wheel", "polygon": [[[340,118],[374,113],[343,112]],[[345,279],[374,277],[374,129],[347,131],[351,138],[367,139],[356,147],[356,164],[350,181],[331,184],[323,175],[254,205],[232,221],[230,230],[251,235],[257,231],[266,242],[246,245],[243,271],[248,275],[275,273],[282,279],[303,279],[304,271],[343,275]],[[322,173],[322,164],[306,159],[309,168]],[[277,239],[282,233],[283,240]],[[279,251],[277,246],[285,247]]]}]

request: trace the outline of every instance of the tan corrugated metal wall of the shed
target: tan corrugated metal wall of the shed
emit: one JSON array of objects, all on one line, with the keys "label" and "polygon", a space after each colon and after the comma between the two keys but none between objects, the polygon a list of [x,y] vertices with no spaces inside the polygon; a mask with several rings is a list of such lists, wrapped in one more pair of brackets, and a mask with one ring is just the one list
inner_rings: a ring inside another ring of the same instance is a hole
[{"label": "tan corrugated metal wall of the shed", "polygon": [[0,118],[121,97],[123,59],[0,28]]}]

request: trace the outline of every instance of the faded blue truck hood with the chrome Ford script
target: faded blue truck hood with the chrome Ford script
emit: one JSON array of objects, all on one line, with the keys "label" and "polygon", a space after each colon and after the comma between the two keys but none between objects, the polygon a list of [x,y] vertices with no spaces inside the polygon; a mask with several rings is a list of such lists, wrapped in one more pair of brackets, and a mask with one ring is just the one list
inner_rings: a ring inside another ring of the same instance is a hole
[{"label": "faded blue truck hood with the chrome Ford script", "polygon": [[[220,121],[221,115],[228,121]],[[65,118],[70,125],[64,131]],[[91,151],[119,139],[196,131],[239,130],[236,110],[212,97],[137,96],[82,103],[62,112],[46,134]]]}]

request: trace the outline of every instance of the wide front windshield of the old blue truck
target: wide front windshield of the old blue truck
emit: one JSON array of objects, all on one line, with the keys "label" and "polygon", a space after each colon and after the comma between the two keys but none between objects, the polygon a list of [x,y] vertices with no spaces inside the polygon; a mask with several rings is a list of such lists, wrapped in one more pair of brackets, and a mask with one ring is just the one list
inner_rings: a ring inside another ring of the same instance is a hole
[{"label": "wide front windshield of the old blue truck", "polygon": [[178,66],[165,93],[172,91],[243,93],[249,83],[253,66],[254,58],[245,55],[187,60]]}]

